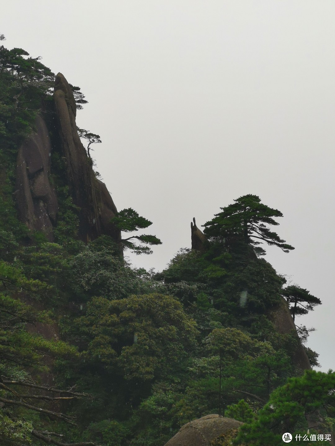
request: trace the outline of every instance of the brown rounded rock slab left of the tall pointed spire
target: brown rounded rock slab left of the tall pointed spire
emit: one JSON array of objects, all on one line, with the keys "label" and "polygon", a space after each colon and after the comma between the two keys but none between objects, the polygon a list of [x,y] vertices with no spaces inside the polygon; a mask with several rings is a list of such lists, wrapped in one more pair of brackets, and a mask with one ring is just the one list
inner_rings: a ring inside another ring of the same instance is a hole
[{"label": "brown rounded rock slab left of the tall pointed spire", "polygon": [[16,202],[19,218],[29,229],[42,231],[53,240],[58,204],[50,184],[51,143],[41,116],[36,132],[21,145],[17,156]]}]

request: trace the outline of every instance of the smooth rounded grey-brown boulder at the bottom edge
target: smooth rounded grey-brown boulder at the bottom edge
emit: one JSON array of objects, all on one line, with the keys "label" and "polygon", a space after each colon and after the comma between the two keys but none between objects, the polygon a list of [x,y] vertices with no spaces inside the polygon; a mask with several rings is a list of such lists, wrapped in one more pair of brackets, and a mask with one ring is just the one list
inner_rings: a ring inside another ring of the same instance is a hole
[{"label": "smooth rounded grey-brown boulder at the bottom edge", "polygon": [[216,439],[223,440],[225,434],[226,440],[234,438],[241,425],[241,421],[233,418],[219,418],[217,414],[206,415],[181,427],[165,446],[211,446]]}]

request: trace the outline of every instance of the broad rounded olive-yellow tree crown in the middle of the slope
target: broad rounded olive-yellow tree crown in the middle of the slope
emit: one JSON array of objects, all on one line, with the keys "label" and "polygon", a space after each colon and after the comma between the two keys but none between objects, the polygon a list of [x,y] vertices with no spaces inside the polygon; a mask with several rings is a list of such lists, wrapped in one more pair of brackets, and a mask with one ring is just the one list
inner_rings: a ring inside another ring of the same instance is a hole
[{"label": "broad rounded olive-yellow tree crown in the middle of the slope", "polygon": [[126,380],[153,380],[180,369],[197,334],[176,299],[155,294],[95,297],[77,324],[88,339],[87,360]]}]

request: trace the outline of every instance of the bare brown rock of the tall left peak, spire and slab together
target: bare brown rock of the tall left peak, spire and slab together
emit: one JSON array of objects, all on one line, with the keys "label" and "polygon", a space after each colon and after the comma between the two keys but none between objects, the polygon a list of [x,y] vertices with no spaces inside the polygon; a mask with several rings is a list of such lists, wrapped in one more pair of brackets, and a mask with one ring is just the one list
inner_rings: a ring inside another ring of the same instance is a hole
[{"label": "bare brown rock of the tall left peak, spire and slab together", "polygon": [[79,207],[80,239],[87,242],[105,234],[117,241],[120,233],[110,223],[117,209],[105,184],[94,175],[92,161],[77,133],[75,98],[61,73],[55,78],[53,99],[55,128],[48,128],[45,117],[38,116],[36,131],[18,152],[15,198],[19,218],[29,229],[44,232],[50,241],[54,239],[58,200],[50,159],[56,150],[65,161],[67,186]]}]

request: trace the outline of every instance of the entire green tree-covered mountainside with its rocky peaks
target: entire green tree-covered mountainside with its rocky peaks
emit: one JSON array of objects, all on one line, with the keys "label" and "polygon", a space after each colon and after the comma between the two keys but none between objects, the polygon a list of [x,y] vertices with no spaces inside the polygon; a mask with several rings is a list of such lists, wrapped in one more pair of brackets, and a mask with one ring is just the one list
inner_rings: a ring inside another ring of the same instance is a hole
[{"label": "entire green tree-covered mountainside with its rocky peaks", "polygon": [[330,434],[335,373],[313,369],[303,324],[321,301],[264,258],[294,249],[272,229],[281,212],[245,195],[194,220],[164,271],[131,267],[127,249],[160,240],[96,178],[84,103],[0,47],[0,444],[163,446],[218,413],[220,386],[222,416],[245,423],[234,444]]}]

